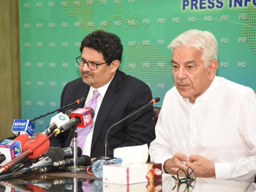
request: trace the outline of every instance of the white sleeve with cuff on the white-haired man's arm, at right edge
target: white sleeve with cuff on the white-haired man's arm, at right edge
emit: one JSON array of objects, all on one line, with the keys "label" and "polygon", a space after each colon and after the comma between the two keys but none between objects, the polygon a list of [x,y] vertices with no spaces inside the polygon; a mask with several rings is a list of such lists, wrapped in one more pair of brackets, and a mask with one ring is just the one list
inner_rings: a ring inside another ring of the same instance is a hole
[{"label": "white sleeve with cuff on the white-haired man's arm, at right edge", "polygon": [[236,124],[241,138],[251,150],[247,157],[236,162],[215,163],[216,179],[252,182],[256,176],[256,95],[253,90],[250,91],[237,103]]}]

